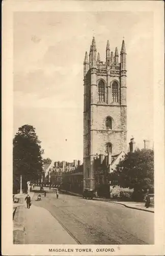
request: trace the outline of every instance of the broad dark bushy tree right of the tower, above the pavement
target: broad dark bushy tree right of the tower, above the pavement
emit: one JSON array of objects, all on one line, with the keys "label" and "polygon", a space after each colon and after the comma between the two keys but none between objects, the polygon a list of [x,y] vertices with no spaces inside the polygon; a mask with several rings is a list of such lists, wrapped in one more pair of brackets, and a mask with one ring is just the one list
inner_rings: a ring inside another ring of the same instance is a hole
[{"label": "broad dark bushy tree right of the tower, above the pavement", "polygon": [[128,153],[120,161],[113,173],[109,175],[112,185],[133,188],[136,191],[154,189],[154,152],[153,150],[136,150]]}]

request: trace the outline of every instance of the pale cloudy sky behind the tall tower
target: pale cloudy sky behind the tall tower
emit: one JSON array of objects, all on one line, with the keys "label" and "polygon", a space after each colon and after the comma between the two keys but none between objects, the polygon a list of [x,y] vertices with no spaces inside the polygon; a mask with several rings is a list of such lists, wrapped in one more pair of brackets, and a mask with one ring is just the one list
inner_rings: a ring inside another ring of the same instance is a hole
[{"label": "pale cloudy sky behind the tall tower", "polygon": [[14,129],[31,124],[43,157],[83,157],[83,62],[95,36],[105,61],[124,37],[127,52],[127,143],[153,143],[152,12],[15,12]]}]

